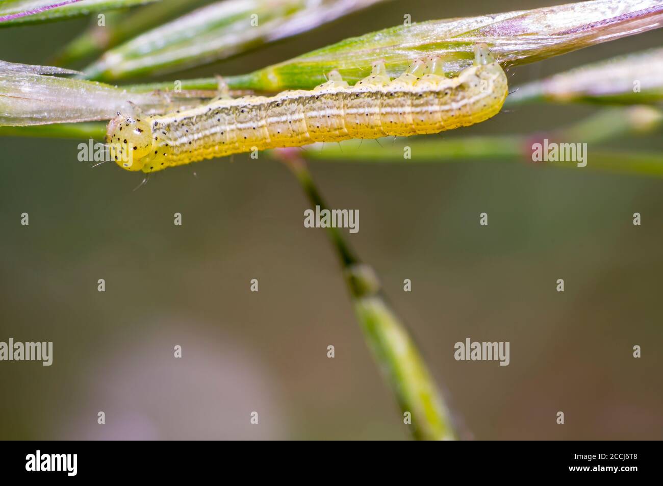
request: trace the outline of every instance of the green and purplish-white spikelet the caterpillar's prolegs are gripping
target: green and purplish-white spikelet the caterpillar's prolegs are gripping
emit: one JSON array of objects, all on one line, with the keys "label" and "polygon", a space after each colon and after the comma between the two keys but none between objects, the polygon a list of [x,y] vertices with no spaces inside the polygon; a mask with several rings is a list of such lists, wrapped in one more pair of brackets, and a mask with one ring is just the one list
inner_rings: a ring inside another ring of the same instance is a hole
[{"label": "green and purplish-white spikelet the caterpillar's prolegs are gripping", "polygon": [[[279,64],[240,76],[227,76],[237,90],[310,89],[338,70],[350,84],[367,76],[371,65],[385,60],[397,76],[416,58],[438,55],[448,75],[472,63],[473,45],[485,42],[503,66],[526,64],[601,42],[658,29],[663,25],[660,0],[593,0],[542,9],[480,17],[400,25],[348,38]],[[536,32],[536,33],[533,33]],[[183,89],[210,89],[214,78],[183,82]],[[136,90],[167,88],[148,84]]]}]

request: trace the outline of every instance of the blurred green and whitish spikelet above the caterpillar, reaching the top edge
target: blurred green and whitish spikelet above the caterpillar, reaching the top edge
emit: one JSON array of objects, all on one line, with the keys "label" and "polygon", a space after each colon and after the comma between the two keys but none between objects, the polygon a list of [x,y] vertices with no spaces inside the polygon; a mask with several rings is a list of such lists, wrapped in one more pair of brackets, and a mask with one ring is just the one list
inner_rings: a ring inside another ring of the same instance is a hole
[{"label": "blurred green and whitish spikelet above the caterpillar, reaching the top edge", "polygon": [[202,7],[106,52],[87,78],[119,80],[206,64],[314,29],[384,0],[227,0]]}]

